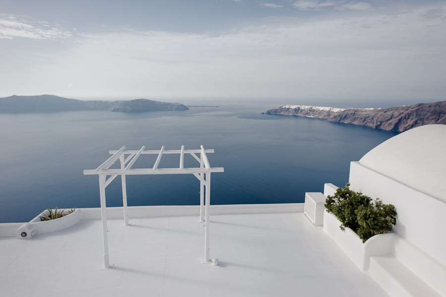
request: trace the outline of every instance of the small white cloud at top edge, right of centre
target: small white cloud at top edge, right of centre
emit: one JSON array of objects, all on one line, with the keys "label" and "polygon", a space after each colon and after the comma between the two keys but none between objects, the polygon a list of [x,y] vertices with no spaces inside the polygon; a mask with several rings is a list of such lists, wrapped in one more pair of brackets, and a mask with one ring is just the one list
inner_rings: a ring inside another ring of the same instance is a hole
[{"label": "small white cloud at top edge, right of centre", "polygon": [[337,10],[367,10],[372,6],[366,2],[346,1],[346,0],[299,0],[293,3],[299,10],[319,10],[324,8],[334,8]]}]

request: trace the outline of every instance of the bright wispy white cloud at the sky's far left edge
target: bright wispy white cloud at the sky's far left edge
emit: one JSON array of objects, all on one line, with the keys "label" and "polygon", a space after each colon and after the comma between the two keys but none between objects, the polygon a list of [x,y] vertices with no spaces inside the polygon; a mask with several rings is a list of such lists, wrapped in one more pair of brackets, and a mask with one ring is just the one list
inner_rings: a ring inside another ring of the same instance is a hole
[{"label": "bright wispy white cloud at the sky's far left edge", "polygon": [[32,25],[26,20],[17,20],[15,16],[0,18],[0,39],[59,39],[70,38],[71,32],[52,27],[45,21]]}]

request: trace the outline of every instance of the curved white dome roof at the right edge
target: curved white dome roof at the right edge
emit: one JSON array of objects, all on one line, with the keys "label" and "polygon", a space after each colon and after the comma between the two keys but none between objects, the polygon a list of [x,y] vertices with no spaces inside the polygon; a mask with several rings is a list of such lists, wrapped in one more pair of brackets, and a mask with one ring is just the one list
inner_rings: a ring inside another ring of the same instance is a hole
[{"label": "curved white dome roof at the right edge", "polygon": [[426,125],[381,143],[359,163],[446,202],[446,125]]}]

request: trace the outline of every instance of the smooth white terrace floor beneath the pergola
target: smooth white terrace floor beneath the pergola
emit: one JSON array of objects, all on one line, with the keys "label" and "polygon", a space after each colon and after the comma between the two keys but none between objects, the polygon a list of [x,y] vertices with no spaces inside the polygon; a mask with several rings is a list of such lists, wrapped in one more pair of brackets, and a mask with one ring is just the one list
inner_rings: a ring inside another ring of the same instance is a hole
[{"label": "smooth white terrace floor beneath the pergola", "polygon": [[387,296],[303,213],[212,215],[219,266],[201,263],[197,216],[130,223],[109,220],[109,270],[97,219],[29,240],[0,238],[0,296]]}]

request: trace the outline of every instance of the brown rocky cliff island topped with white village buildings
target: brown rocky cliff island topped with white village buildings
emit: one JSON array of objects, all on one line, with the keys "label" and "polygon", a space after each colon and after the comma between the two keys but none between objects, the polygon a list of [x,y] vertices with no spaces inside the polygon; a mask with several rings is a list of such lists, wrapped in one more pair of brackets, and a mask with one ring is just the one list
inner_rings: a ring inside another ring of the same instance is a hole
[{"label": "brown rocky cliff island topped with white village buildings", "polygon": [[446,101],[417,103],[391,108],[335,108],[306,105],[285,105],[262,114],[323,119],[403,132],[428,124],[446,125]]}]

